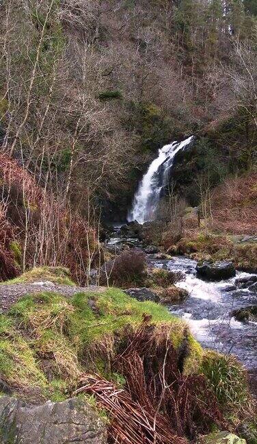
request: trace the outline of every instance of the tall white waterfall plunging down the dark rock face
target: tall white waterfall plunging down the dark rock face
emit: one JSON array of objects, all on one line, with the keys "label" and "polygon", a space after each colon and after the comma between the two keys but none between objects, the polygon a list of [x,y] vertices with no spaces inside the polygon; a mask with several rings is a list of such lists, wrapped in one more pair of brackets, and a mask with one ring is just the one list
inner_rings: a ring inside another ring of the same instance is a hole
[{"label": "tall white waterfall plunging down the dark rock face", "polygon": [[158,157],[150,164],[148,171],[141,180],[135,193],[133,207],[129,212],[128,221],[144,223],[154,219],[161,189],[167,185],[174,157],[178,151],[191,143],[193,137],[194,136],[191,136],[180,143],[170,143],[159,149]]}]

